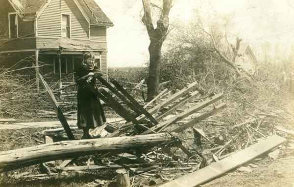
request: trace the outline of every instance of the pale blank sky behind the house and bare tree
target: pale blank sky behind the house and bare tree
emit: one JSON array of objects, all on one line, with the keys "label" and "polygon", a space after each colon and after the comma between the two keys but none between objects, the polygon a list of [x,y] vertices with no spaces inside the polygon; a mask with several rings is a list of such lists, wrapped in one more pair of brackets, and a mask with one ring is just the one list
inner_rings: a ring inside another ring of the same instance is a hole
[{"label": "pale blank sky behind the house and bare tree", "polygon": [[[148,61],[149,39],[141,22],[142,0],[96,2],[114,22],[107,30],[109,66],[143,66]],[[233,14],[233,33],[250,43],[257,55],[261,43],[270,43],[272,53],[276,46],[288,53],[294,43],[293,0],[174,0],[170,21],[193,21],[195,8],[207,18],[211,14]]]}]

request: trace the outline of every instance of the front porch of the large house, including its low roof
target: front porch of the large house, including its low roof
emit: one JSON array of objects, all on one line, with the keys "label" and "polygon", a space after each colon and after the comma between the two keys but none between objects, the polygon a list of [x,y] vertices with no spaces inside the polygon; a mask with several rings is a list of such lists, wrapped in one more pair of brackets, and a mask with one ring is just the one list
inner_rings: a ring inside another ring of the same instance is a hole
[{"label": "front porch of the large house, including its low roof", "polygon": [[[92,51],[95,54],[95,63],[101,70],[101,54],[105,49],[87,45],[71,39],[58,39],[36,50],[36,73],[48,75],[47,81],[63,88],[61,92],[76,92],[76,86],[69,86],[75,82],[75,70],[80,68],[85,52]],[[46,66],[38,67],[39,63]],[[39,78],[38,78],[39,79]],[[39,81],[37,81],[39,90]]]}]

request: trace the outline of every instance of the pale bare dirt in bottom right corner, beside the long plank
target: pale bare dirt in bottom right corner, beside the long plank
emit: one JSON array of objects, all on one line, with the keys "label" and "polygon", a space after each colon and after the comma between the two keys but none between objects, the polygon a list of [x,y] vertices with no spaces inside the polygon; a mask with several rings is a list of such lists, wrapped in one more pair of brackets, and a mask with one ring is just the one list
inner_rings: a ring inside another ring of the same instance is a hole
[{"label": "pale bare dirt in bottom right corner, beside the long plank", "polygon": [[201,187],[294,187],[294,157],[265,158],[253,162],[257,168],[243,173],[233,170]]}]

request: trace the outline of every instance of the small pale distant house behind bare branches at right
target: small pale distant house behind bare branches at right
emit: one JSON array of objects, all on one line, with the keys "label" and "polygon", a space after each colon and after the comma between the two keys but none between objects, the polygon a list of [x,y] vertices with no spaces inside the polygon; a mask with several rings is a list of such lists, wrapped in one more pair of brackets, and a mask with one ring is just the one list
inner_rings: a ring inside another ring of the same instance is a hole
[{"label": "small pale distant house behind bare branches at right", "polygon": [[250,74],[254,74],[257,71],[258,61],[249,44],[241,42],[235,62],[240,69]]}]

